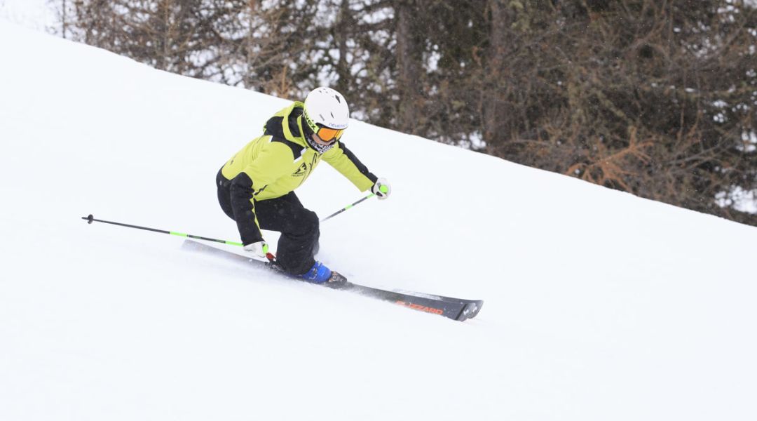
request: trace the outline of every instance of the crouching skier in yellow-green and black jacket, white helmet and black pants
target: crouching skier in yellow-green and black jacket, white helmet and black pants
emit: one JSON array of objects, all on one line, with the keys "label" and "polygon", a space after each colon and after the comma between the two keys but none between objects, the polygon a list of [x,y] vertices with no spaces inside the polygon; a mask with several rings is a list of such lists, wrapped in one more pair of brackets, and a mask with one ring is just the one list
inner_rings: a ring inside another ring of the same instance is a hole
[{"label": "crouching skier in yellow-green and black jacket, white helmet and black pants", "polygon": [[386,179],[377,178],[340,141],[350,110],[334,89],[313,89],[305,102],[274,114],[263,136],[249,142],[221,167],[218,201],[235,220],[245,251],[266,257],[268,245],[260,229],[281,232],[276,261],[286,273],[308,282],[343,282],[313,257],[317,252],[319,220],[294,194],[321,161],[328,162],[357,189],[370,189],[379,199],[391,193]]}]

